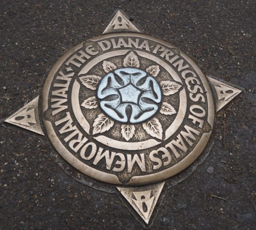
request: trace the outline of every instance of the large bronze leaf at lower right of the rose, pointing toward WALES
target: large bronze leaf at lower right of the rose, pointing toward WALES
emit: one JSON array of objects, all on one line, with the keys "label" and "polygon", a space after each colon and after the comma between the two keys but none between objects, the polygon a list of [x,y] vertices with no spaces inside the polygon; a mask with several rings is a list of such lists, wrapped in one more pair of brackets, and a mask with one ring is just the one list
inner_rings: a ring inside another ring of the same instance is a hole
[{"label": "large bronze leaf at lower right of the rose, pointing toward WALES", "polygon": [[156,137],[160,140],[163,138],[163,128],[159,120],[155,117],[142,123],[144,130],[152,137]]}]

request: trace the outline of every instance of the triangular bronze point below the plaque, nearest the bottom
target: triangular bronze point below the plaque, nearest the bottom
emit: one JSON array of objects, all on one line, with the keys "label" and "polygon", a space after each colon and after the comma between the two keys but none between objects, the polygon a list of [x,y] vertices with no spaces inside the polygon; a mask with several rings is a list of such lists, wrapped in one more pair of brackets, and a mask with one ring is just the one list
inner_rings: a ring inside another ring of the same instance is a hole
[{"label": "triangular bronze point below the plaque, nearest the bottom", "polygon": [[165,182],[136,188],[116,187],[148,224]]}]

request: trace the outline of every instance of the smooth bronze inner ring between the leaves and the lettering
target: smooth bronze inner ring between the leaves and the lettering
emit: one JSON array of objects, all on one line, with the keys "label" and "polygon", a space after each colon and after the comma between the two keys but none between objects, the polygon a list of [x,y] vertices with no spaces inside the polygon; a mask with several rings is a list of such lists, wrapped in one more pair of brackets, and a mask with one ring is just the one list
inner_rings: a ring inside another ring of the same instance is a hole
[{"label": "smooth bronze inner ring between the leaves and the lettering", "polygon": [[[118,50],[118,51],[110,51],[104,54],[101,54],[97,57],[96,60],[91,60],[88,62],[79,72],[79,75],[86,74],[89,72],[91,68],[93,68],[96,64],[99,62],[109,58],[109,57],[114,57],[114,56],[120,56],[120,55],[125,55],[129,52],[130,50],[125,49],[125,50]],[[121,52],[121,53],[120,53]],[[139,56],[150,59],[154,62],[156,62],[158,65],[162,66],[172,77],[175,81],[182,82],[179,75],[175,72],[175,70],[168,65],[167,63],[163,62],[159,57],[156,57],[152,54],[143,52],[143,51],[137,51]],[[79,106],[79,88],[80,85],[77,81],[74,82],[72,86],[72,94],[71,94],[71,105],[72,105],[72,110],[73,113],[78,121],[78,123],[81,125],[81,127],[84,129],[84,131],[89,134],[90,131],[90,125],[86,118],[84,117],[81,108]],[[186,110],[187,110],[187,96],[186,96],[186,91],[185,89],[181,90],[180,95],[180,105],[179,105],[179,110],[177,113],[176,118],[172,122],[172,124],[166,129],[165,131],[165,140],[171,137],[180,127],[182,124],[184,117],[186,115]],[[124,142],[124,141],[118,141],[111,139],[105,135],[99,135],[97,137],[93,137],[95,140],[99,141],[100,143],[104,145],[108,145],[109,147],[112,148],[117,148],[117,149],[122,149],[122,150],[142,150],[142,149],[147,149],[150,147],[154,147],[156,145],[161,144],[161,142],[157,141],[156,139],[148,139],[145,141],[139,141],[139,142]],[[132,143],[132,145],[131,145]]]}]

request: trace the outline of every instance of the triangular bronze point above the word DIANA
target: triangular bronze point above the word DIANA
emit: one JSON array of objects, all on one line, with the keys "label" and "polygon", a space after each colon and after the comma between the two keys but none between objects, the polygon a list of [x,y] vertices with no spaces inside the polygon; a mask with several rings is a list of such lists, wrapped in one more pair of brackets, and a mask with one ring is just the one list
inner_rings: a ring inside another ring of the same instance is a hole
[{"label": "triangular bronze point above the word DIANA", "polygon": [[102,34],[115,32],[136,32],[141,33],[124,14],[118,10]]}]

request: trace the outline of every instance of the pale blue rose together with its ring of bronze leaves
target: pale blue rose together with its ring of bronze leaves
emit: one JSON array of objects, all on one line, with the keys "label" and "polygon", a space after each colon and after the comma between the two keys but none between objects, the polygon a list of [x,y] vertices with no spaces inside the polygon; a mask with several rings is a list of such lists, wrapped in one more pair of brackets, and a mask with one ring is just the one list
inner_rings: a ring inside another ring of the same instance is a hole
[{"label": "pale blue rose together with its ring of bronze leaves", "polygon": [[79,77],[87,89],[97,90],[97,98],[88,97],[81,106],[89,110],[100,106],[104,112],[94,119],[92,135],[108,131],[116,120],[123,123],[121,134],[126,141],[133,138],[140,122],[147,134],[162,140],[163,127],[156,117],[157,112],[167,116],[177,113],[164,97],[178,93],[181,85],[170,80],[158,84],[155,78],[160,73],[159,65],[151,65],[146,71],[138,69],[140,61],[133,51],[123,59],[123,68],[116,65],[104,60],[102,67],[107,75],[103,78],[97,75]]}]

